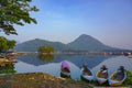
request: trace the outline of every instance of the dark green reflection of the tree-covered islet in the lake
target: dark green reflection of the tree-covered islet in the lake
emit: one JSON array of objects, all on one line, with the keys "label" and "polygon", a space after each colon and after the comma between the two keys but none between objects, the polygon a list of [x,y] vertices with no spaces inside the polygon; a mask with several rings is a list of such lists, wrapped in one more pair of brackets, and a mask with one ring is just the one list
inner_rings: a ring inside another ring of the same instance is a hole
[{"label": "dark green reflection of the tree-covered islet in the lake", "polygon": [[37,55],[38,59],[42,61],[42,62],[51,62],[54,59],[54,55],[43,55],[43,54],[38,54]]}]

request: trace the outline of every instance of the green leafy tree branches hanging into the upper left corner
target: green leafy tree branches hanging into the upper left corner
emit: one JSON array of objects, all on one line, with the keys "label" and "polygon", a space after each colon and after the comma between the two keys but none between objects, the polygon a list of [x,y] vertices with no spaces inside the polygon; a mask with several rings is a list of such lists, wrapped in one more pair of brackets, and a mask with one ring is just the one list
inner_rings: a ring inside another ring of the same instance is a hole
[{"label": "green leafy tree branches hanging into the upper left corner", "polygon": [[24,23],[36,23],[36,20],[30,16],[31,11],[38,11],[35,6],[30,6],[32,0],[0,0],[0,32],[7,35],[18,34],[14,24],[24,25]]}]

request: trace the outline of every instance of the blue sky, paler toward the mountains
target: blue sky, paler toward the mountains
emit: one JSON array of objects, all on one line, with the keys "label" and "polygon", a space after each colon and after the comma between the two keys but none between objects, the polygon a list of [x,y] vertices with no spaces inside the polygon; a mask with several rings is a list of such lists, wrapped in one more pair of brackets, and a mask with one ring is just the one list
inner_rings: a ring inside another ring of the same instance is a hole
[{"label": "blue sky, paler toward the mountains", "polygon": [[33,0],[37,24],[15,25],[19,43],[42,38],[69,43],[88,34],[103,44],[132,50],[132,0]]}]

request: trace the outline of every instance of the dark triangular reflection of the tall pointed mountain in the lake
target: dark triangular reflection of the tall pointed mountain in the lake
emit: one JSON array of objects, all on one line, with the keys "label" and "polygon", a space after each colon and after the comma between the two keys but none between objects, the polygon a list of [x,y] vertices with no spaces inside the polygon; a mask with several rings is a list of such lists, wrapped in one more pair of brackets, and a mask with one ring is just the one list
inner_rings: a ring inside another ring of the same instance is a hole
[{"label": "dark triangular reflection of the tall pointed mountain in the lake", "polygon": [[67,61],[74,63],[78,67],[81,67],[81,65],[85,63],[89,68],[92,68],[110,57],[111,56],[102,56],[102,55],[74,55],[74,56],[68,56]]}]

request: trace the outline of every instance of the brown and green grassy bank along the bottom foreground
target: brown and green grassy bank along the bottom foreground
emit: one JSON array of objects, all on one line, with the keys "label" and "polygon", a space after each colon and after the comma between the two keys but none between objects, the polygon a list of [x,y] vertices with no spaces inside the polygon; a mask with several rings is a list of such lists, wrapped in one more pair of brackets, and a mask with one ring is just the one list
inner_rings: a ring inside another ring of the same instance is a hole
[{"label": "brown and green grassy bank along the bottom foreground", "polygon": [[[132,72],[127,72],[125,81],[119,87],[132,88]],[[86,82],[82,80],[64,79],[43,73],[14,74],[0,76],[0,88],[94,88],[109,87],[99,85],[96,81]]]}]

